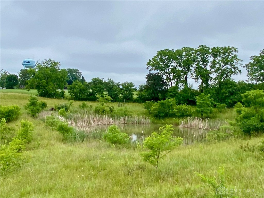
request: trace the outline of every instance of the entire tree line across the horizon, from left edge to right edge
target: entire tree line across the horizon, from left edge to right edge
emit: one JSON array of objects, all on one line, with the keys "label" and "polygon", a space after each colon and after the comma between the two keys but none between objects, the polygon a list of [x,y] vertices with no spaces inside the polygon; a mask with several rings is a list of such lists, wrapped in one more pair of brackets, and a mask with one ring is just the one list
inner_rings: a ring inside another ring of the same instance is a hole
[{"label": "entire tree line across the horizon, from left edge to right edge", "polygon": [[[175,98],[178,104],[196,105],[195,97],[204,93],[215,102],[233,107],[242,100],[241,94],[253,89],[264,89],[264,50],[251,56],[243,65],[248,81],[235,82],[232,76],[241,74],[242,60],[238,49],[233,46],[181,49],[164,49],[149,59],[146,83],[138,88],[137,102],[160,101]],[[21,69],[18,76],[1,70],[0,86],[13,88],[17,85],[26,89],[36,88],[39,96],[65,97],[63,89],[74,100],[95,101],[97,95],[108,94],[112,101],[133,101],[136,91],[132,82],[119,83],[113,79],[92,78],[86,82],[78,69],[60,69],[60,63],[48,59],[37,63],[35,69]],[[194,89],[189,79],[199,83]],[[62,91],[58,91],[61,89]]]}]

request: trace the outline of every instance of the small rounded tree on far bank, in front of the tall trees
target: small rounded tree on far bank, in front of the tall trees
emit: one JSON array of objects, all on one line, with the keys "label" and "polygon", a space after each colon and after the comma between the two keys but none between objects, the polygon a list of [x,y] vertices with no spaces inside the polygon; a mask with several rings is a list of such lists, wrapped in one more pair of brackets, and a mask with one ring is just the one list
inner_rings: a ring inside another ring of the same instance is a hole
[{"label": "small rounded tree on far bank, in front of the tall trees", "polygon": [[201,93],[196,96],[196,111],[201,114],[201,117],[209,117],[213,113],[214,99],[210,98],[210,94]]}]

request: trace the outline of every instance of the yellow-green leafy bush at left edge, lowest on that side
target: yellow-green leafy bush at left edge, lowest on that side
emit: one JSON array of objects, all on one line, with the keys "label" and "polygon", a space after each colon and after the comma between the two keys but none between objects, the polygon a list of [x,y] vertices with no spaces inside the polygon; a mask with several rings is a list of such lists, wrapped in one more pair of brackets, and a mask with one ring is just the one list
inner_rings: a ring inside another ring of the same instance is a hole
[{"label": "yellow-green leafy bush at left edge, lowest on that side", "polygon": [[25,157],[21,153],[25,149],[24,140],[13,138],[9,145],[1,145],[0,164],[1,175],[15,168],[19,168]]}]

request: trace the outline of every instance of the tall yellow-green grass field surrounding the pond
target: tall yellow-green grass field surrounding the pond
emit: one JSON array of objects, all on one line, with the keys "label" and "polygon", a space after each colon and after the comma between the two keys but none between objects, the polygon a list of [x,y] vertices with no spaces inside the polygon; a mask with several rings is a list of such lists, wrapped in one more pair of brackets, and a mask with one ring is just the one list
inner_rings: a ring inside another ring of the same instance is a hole
[{"label": "tall yellow-green grass field surrounding the pond", "polygon": [[[9,90],[1,90],[1,105],[23,108],[27,103],[27,93],[5,91]],[[46,101],[49,108],[67,102],[39,100]],[[74,106],[80,103],[74,102]],[[142,104],[126,105],[135,114],[144,114]],[[143,162],[139,155],[142,148],[112,147],[89,139],[65,143],[58,131],[30,118],[23,109],[20,119],[34,123],[34,138],[24,151],[26,161],[22,166],[7,175],[1,173],[1,197],[216,197],[213,188],[194,172],[219,180],[220,166],[225,167],[226,197],[231,197],[231,192],[233,197],[264,197],[263,155],[254,149],[239,148],[247,143],[253,148],[263,136],[181,146],[169,153],[156,171]],[[9,125],[18,128],[19,120]]]}]

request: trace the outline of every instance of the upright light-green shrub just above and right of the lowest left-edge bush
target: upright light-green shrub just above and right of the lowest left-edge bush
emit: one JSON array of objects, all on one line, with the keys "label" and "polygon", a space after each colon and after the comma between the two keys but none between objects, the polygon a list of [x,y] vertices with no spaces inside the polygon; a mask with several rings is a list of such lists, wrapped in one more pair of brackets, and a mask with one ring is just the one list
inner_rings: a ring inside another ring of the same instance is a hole
[{"label": "upright light-green shrub just above and right of the lowest left-edge bush", "polygon": [[34,129],[33,123],[28,120],[20,121],[21,127],[17,132],[17,138],[25,140],[25,142],[31,142],[32,140],[32,131]]}]

